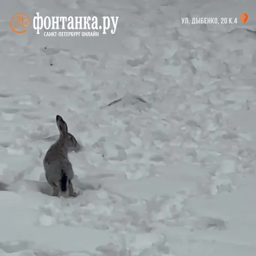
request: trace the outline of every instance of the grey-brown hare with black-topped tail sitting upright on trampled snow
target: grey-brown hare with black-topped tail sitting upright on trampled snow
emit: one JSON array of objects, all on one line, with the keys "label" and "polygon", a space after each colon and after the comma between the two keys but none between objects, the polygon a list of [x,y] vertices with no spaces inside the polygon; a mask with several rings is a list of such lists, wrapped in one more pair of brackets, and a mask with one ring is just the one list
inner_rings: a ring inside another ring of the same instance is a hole
[{"label": "grey-brown hare with black-topped tail sitting upright on trampled snow", "polygon": [[43,165],[47,182],[53,187],[53,196],[76,197],[72,179],[74,171],[69,161],[70,151],[78,152],[81,146],[75,137],[68,132],[68,126],[63,118],[56,116],[56,124],[60,132],[59,139],[48,149]]}]

